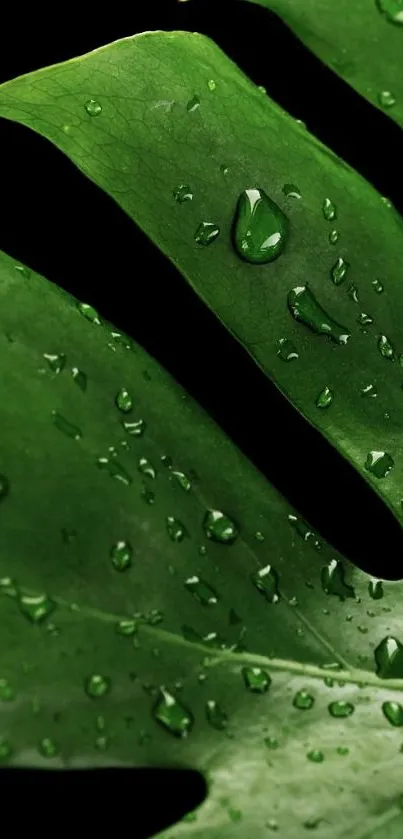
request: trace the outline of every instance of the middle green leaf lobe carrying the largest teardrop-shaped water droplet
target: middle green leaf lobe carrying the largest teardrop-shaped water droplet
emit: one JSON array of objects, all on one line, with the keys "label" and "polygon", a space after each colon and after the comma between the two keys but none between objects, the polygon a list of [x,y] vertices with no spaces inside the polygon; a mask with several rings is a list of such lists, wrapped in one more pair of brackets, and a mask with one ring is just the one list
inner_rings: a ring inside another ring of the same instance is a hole
[{"label": "middle green leaf lobe carrying the largest teardrop-shaped water droplet", "polygon": [[[113,196],[402,522],[403,228],[394,209],[197,34],[145,33],[8,82],[0,114],[48,137]],[[232,244],[250,187],[288,218],[284,253],[269,264],[248,264]],[[288,295],[306,283],[339,335],[351,333],[346,345],[292,316]],[[283,339],[298,354],[290,363]]]}]

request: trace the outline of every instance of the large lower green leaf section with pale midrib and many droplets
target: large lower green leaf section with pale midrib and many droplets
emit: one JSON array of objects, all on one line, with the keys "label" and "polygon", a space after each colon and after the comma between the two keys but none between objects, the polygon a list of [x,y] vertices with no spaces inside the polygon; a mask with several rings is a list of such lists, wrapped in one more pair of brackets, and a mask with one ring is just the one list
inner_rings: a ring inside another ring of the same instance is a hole
[{"label": "large lower green leaf section with pale midrib and many droplets", "polygon": [[1,764],[198,769],[186,837],[400,835],[403,583],[91,307],[4,254],[0,289]]}]

